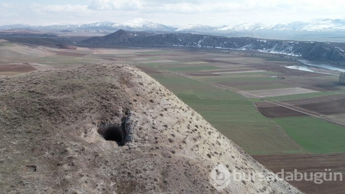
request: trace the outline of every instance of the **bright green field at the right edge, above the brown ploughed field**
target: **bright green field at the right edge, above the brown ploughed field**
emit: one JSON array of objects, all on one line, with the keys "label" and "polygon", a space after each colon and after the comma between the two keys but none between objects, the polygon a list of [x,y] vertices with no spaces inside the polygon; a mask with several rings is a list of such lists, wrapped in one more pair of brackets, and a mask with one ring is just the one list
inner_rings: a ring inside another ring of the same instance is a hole
[{"label": "bright green field at the right edge, above the brown ploughed field", "polygon": [[310,153],[345,152],[345,128],[314,117],[273,119]]}]

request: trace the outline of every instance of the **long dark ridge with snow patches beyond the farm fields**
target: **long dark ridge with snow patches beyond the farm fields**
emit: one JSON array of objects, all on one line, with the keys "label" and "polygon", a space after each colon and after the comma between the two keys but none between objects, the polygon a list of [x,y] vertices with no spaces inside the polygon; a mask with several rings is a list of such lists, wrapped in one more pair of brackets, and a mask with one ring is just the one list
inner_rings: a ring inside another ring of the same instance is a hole
[{"label": "long dark ridge with snow patches beyond the farm fields", "polygon": [[149,33],[117,32],[86,39],[82,42],[88,46],[136,46],[136,47],[190,47],[220,48],[261,51],[319,62],[341,64],[345,62],[345,44],[330,42],[306,42],[288,40],[270,40],[251,37],[225,37],[192,33]]}]

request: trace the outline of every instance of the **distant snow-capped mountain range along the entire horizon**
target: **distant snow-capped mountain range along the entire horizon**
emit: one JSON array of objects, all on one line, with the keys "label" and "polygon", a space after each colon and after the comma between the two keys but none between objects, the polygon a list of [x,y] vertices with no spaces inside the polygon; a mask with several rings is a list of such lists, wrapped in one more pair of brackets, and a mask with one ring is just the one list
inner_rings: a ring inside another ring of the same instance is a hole
[{"label": "distant snow-capped mountain range along the entire horizon", "polygon": [[98,31],[111,32],[119,29],[130,31],[169,31],[169,32],[265,32],[265,31],[290,31],[290,32],[342,32],[345,31],[345,19],[319,19],[311,22],[291,22],[287,24],[264,25],[261,23],[242,23],[229,26],[207,25],[181,25],[169,26],[153,23],[142,18],[130,21],[95,22],[81,25],[50,24],[44,26],[32,26],[25,24],[13,24],[0,26],[2,30],[26,28],[38,31]]}]

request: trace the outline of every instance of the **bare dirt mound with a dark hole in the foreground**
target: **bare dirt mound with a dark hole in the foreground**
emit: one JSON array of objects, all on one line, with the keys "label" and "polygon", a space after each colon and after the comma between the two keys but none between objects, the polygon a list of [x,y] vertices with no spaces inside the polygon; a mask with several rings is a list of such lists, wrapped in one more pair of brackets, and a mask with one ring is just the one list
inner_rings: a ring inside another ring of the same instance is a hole
[{"label": "bare dirt mound with a dark hole in the foreground", "polygon": [[[142,71],[123,64],[0,78],[5,193],[217,193],[228,173],[269,171]],[[223,169],[224,170],[224,169]],[[299,193],[279,180],[223,193]]]}]

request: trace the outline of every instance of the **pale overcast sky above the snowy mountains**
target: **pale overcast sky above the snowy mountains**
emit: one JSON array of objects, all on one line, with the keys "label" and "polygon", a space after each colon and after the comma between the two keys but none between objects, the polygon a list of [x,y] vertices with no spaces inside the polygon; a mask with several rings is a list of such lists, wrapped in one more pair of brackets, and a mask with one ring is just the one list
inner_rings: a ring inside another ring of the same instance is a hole
[{"label": "pale overcast sky above the snowy mountains", "polygon": [[345,0],[0,0],[0,24],[85,24],[144,18],[166,25],[345,18]]}]

